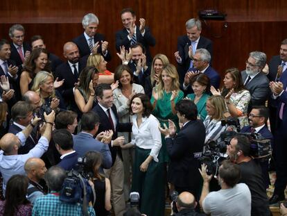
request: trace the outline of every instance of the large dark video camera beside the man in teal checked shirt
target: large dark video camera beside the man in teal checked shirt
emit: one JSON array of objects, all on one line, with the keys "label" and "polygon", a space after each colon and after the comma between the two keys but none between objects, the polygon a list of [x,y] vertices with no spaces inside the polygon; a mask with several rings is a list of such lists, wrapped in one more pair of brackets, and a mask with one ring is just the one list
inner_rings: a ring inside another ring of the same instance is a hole
[{"label": "large dark video camera beside the man in teal checked shirt", "polygon": [[82,213],[87,215],[87,207],[92,201],[93,206],[96,201],[94,188],[89,185],[89,174],[84,172],[83,166],[86,163],[86,158],[78,158],[76,169],[67,172],[67,177],[64,179],[62,189],[60,191],[60,201],[67,203],[82,203]]}]

